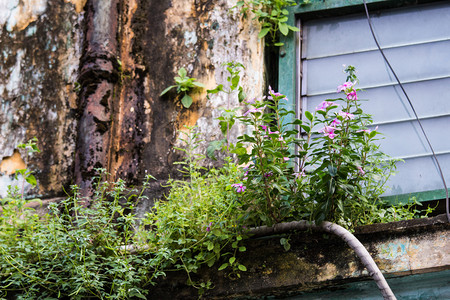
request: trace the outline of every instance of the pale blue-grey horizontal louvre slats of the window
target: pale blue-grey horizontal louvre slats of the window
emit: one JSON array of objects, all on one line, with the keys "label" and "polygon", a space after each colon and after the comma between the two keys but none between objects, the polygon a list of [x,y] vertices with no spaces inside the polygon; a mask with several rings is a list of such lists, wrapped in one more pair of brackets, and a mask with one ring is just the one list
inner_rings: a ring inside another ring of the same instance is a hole
[{"label": "pale blue-grey horizontal louvre slats of the window", "polygon": [[[413,6],[372,14],[379,43],[404,83],[450,183],[450,4]],[[345,80],[343,65],[354,65],[364,110],[385,135],[382,150],[404,159],[386,194],[440,190],[431,151],[394,76],[376,48],[365,15],[302,25],[301,105],[314,111]]]}]

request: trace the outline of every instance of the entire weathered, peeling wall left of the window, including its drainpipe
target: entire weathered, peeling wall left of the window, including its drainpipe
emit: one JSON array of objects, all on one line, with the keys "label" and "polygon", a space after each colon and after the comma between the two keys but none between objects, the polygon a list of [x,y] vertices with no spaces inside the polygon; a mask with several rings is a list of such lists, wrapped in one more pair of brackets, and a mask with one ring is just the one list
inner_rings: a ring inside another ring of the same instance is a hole
[{"label": "entire weathered, peeling wall left of the window, including its drainpipe", "polygon": [[[248,96],[263,90],[259,25],[230,12],[235,3],[0,0],[0,197],[27,163],[38,178],[29,194],[44,197],[72,183],[89,193],[99,167],[130,184],[146,171],[160,180],[177,176],[178,131],[197,125],[204,151],[220,138],[215,118],[229,100],[207,100],[206,89],[189,109],[175,93],[161,98],[176,72],[185,67],[210,89],[226,83],[221,65],[234,60],[246,67]],[[33,136],[42,153],[14,152]]]}]

